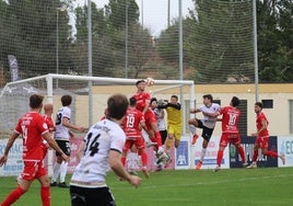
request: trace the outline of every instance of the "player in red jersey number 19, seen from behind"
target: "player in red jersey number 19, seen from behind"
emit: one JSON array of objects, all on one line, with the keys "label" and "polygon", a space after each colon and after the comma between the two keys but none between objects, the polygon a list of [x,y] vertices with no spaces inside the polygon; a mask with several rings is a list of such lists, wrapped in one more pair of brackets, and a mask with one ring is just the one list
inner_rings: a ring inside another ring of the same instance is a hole
[{"label": "player in red jersey number 19, seen from behind", "polygon": [[139,110],[137,110],[136,106],[137,100],[132,96],[129,100],[129,107],[126,112],[126,116],[122,123],[122,129],[126,134],[127,139],[125,142],[121,161],[125,165],[127,152],[134,145],[138,149],[139,156],[141,157],[142,172],[144,173],[145,178],[149,179],[150,174],[146,168],[148,156],[144,151],[145,145],[141,136],[141,127],[145,127],[145,123],[143,114]]}]

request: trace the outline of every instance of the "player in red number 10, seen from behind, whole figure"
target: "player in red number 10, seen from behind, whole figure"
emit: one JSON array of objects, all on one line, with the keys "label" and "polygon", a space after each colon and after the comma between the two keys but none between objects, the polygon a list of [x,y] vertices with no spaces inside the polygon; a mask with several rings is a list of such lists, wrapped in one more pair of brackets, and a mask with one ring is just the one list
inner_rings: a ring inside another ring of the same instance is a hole
[{"label": "player in red number 10, seen from behind, whole figure", "polygon": [[222,115],[222,136],[220,139],[219,151],[216,156],[216,167],[214,169],[214,172],[218,172],[221,169],[223,153],[228,142],[232,142],[238,149],[243,165],[247,165],[244,149],[241,144],[241,135],[238,128],[241,111],[237,108],[237,106],[239,103],[239,99],[237,96],[233,96],[228,106],[224,106],[219,112],[212,114],[213,116]]}]

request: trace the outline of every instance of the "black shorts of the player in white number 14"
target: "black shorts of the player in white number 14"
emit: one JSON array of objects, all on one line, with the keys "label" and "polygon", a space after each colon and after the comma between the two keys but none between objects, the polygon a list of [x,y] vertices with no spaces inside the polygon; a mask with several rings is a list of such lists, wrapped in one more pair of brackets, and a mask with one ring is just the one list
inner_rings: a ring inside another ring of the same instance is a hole
[{"label": "black shorts of the player in white number 14", "polygon": [[116,206],[109,187],[86,188],[70,185],[71,206]]}]

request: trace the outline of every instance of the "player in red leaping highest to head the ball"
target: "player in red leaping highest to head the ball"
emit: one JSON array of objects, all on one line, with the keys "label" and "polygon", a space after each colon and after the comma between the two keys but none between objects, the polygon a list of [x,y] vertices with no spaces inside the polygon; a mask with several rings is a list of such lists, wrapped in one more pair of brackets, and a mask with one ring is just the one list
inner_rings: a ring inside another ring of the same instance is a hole
[{"label": "player in red leaping highest to head the ball", "polygon": [[156,146],[154,146],[154,149],[156,151],[159,159],[165,159],[166,154],[162,147],[162,138],[161,138],[160,130],[157,128],[157,122],[156,122],[153,111],[150,107],[151,95],[150,93],[144,91],[145,81],[139,80],[137,81],[136,85],[138,88],[138,91],[133,95],[133,98],[137,100],[137,108],[141,111],[142,114],[144,115],[145,125],[146,125],[150,139],[153,142],[156,142]]}]

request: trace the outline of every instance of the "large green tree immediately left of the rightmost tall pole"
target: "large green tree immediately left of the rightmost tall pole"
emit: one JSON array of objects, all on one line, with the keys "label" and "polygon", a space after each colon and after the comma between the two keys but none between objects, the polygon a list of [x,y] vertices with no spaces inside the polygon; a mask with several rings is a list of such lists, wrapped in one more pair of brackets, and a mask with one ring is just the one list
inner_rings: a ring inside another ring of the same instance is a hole
[{"label": "large green tree immediately left of the rightmost tall pole", "polygon": [[253,31],[244,26],[247,19],[253,21],[245,9],[249,8],[249,2],[198,0],[195,3],[194,32],[185,45],[188,58],[198,71],[196,81],[225,82],[231,76],[238,80],[243,77],[253,79]]}]

